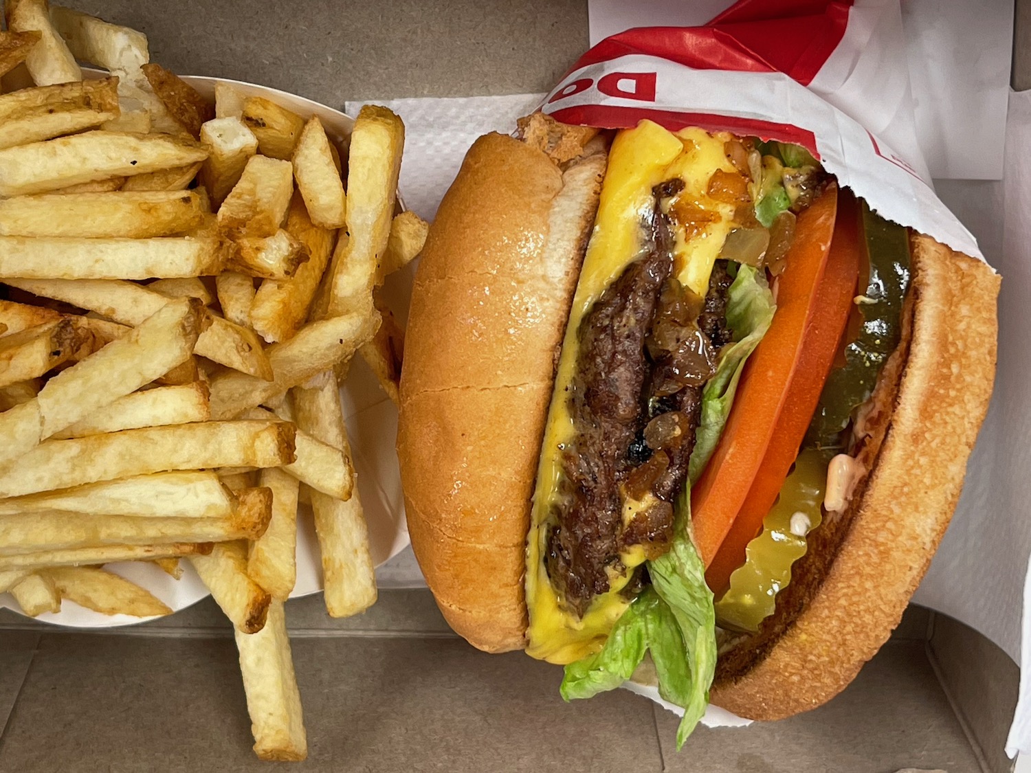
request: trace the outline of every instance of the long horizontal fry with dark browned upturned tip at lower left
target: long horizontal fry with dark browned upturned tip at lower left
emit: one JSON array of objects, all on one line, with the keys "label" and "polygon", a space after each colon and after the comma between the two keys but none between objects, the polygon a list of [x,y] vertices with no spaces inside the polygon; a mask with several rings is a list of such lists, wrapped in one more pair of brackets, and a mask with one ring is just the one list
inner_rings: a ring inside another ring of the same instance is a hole
[{"label": "long horizontal fry with dark browned upturned tip at lower left", "polygon": [[268,489],[246,489],[237,507],[218,518],[137,517],[80,512],[23,512],[0,515],[0,556],[67,550],[97,545],[166,542],[225,542],[258,539],[272,517]]}]

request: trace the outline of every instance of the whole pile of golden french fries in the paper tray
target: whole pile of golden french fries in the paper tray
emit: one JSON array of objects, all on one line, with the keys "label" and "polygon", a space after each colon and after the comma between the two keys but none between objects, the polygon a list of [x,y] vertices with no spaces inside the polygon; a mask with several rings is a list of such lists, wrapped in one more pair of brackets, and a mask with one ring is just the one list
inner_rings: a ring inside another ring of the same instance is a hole
[{"label": "whole pile of golden french fries in the paper tray", "polygon": [[377,288],[427,228],[396,212],[404,127],[364,108],[344,148],[225,83],[209,103],[135,30],[4,10],[0,593],[30,615],[167,614],[104,566],[185,559],[235,628],[255,751],[303,760],[299,503],[329,613],[376,598],[338,378],[361,351],[396,400]]}]

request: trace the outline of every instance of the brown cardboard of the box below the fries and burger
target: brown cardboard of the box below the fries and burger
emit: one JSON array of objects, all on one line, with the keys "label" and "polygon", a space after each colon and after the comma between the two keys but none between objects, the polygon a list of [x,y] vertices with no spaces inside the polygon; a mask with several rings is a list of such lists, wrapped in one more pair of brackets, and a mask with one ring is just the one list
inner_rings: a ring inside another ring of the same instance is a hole
[{"label": "brown cardboard of the box below the fries and burger", "polygon": [[[830,705],[701,728],[680,752],[671,714],[625,692],[564,704],[558,669],[470,648],[426,591],[385,592],[346,621],[330,621],[319,597],[292,602],[288,616],[308,730],[302,770],[978,770],[928,665],[921,609]],[[11,704],[3,772],[268,769],[251,751],[235,648],[209,601],[107,634],[0,615],[0,720]]]}]

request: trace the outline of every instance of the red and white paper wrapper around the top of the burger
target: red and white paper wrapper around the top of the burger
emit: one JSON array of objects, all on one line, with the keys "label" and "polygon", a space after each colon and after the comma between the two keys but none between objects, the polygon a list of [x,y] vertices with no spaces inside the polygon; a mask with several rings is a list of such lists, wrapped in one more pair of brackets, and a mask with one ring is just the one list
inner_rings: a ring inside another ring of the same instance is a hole
[{"label": "red and white paper wrapper around the top of the burger", "polygon": [[911,111],[898,16],[884,2],[743,0],[704,27],[627,30],[585,54],[541,109],[568,124],[648,119],[798,143],[882,216],[984,259],[935,196],[911,114],[893,133],[905,147],[877,133]]}]

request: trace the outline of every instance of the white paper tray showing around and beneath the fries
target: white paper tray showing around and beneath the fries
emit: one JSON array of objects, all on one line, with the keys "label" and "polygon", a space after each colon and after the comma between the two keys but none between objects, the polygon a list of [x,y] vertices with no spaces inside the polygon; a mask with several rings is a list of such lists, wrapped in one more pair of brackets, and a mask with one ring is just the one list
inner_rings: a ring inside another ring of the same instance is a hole
[{"label": "white paper tray showing around and beneath the fries", "polygon": [[[90,76],[106,74],[87,72]],[[225,78],[188,75],[184,80],[207,97],[213,98],[214,83],[222,80],[248,96],[267,97],[302,117],[318,115],[326,133],[343,147],[347,145],[354,120],[318,102],[275,89]],[[399,315],[401,323],[405,322],[408,299],[411,296],[411,278],[412,269],[409,267],[390,277],[384,289],[391,307],[402,311]],[[355,471],[358,475],[358,491],[369,525],[372,562],[378,567],[408,544],[404,501],[401,497],[401,476],[394,450],[394,440],[397,436],[397,408],[379,388],[375,376],[360,357],[354,360],[347,382],[340,390],[340,397],[347,421]],[[190,563],[184,561],[181,564],[185,572],[180,580],[173,579],[148,563],[108,564],[105,569],[145,587],[173,611],[178,611],[208,596],[207,589],[197,577]],[[297,524],[297,584],[291,596],[309,596],[320,591],[322,591],[322,562],[312,527],[311,510],[301,506],[298,510]],[[0,608],[21,612],[18,602],[9,594],[0,594]],[[60,612],[57,614],[44,612],[36,619],[73,628],[113,628],[154,618],[130,617],[125,614],[106,615],[85,609],[73,602],[63,601]]]}]

